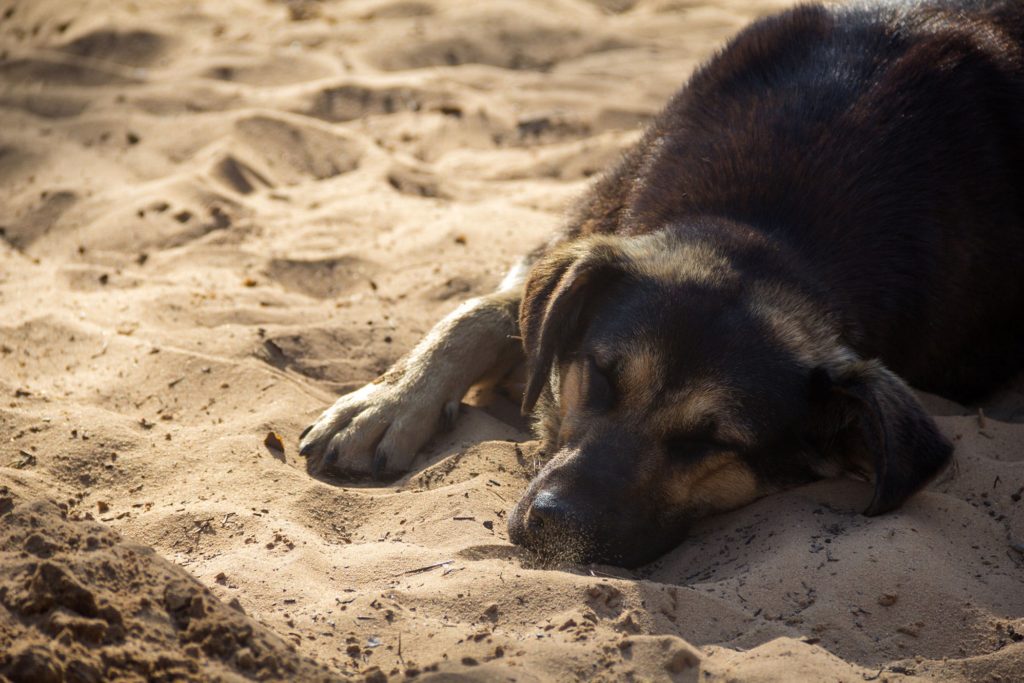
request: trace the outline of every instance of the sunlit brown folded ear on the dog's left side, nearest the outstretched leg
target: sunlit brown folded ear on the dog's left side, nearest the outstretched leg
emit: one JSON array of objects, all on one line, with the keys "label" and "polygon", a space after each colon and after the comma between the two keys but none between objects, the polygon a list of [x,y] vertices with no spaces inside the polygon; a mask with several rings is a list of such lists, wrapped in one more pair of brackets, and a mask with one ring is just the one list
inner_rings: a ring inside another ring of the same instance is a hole
[{"label": "sunlit brown folded ear on the dog's left side, nearest the outstretched leg", "polygon": [[519,306],[526,352],[522,412],[534,410],[552,364],[577,339],[588,301],[622,274],[625,256],[610,238],[590,238],[556,248],[538,261]]}]

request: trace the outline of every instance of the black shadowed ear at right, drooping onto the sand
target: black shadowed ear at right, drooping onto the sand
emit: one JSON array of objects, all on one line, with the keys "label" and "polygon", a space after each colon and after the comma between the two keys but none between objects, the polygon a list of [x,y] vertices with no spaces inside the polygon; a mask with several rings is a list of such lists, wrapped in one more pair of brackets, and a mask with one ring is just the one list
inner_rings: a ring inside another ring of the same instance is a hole
[{"label": "black shadowed ear at right, drooping onto the sand", "polygon": [[949,462],[952,445],[909,387],[878,360],[818,367],[810,384],[814,431],[852,446],[851,465],[874,470],[865,515],[898,508]]}]

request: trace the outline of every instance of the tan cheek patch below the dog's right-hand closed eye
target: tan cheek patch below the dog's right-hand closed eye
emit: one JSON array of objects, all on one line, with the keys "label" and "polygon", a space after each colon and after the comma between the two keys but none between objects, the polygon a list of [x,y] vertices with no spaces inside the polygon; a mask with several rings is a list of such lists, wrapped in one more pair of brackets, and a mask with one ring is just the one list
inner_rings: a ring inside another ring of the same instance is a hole
[{"label": "tan cheek patch below the dog's right-hand closed eye", "polygon": [[760,485],[751,468],[732,453],[711,456],[666,486],[670,505],[707,512],[733,510],[760,496]]}]

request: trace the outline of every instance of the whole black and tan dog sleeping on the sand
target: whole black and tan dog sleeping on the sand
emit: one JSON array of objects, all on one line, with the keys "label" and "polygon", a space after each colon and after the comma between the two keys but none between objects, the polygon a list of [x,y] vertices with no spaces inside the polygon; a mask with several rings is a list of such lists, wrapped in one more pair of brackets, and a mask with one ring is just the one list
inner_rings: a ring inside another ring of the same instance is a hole
[{"label": "whole black and tan dog sleeping on the sand", "polygon": [[408,470],[514,352],[551,459],[515,543],[626,565],[845,471],[866,514],[1024,361],[1024,3],[797,7],[699,69],[552,244],[311,425],[313,470]]}]

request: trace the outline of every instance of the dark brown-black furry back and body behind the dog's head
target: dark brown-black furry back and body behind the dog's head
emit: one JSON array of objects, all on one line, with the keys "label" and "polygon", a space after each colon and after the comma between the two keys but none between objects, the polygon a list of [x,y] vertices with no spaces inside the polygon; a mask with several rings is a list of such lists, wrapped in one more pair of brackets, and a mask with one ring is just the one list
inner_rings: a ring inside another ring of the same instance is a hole
[{"label": "dark brown-black furry back and body behind the dog's head", "polygon": [[734,220],[827,290],[865,356],[947,395],[990,390],[1024,358],[1022,42],[1013,1],[764,19],[693,76],[570,230]]}]

